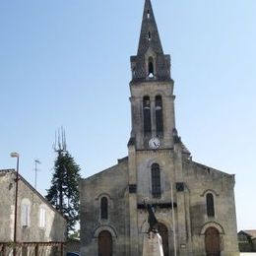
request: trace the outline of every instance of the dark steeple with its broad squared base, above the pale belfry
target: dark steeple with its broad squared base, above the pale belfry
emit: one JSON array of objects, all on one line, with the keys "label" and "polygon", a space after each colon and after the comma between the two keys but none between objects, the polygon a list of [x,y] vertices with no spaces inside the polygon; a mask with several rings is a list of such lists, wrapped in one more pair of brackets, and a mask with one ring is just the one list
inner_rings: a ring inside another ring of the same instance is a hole
[{"label": "dark steeple with its broad squared base, above the pale belfry", "polygon": [[136,56],[131,56],[132,82],[170,80],[170,56],[164,55],[151,0],[145,0]]}]

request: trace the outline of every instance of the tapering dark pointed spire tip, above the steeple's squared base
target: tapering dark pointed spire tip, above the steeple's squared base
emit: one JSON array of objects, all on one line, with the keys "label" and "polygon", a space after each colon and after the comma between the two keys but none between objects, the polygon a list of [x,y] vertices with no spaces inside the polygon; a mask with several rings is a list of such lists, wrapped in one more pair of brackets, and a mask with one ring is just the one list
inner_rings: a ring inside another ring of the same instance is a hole
[{"label": "tapering dark pointed spire tip, above the steeple's squared base", "polygon": [[163,53],[160,43],[160,34],[155,20],[151,0],[145,0],[137,55],[144,55],[149,47],[151,47],[156,53]]}]

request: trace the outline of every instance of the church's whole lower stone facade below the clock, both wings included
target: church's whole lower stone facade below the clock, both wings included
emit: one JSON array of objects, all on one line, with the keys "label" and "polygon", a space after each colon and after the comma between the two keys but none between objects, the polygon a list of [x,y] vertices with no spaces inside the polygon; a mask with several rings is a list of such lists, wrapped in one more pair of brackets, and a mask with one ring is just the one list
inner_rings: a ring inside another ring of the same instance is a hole
[{"label": "church's whole lower stone facade below the clock, both wings included", "polygon": [[[160,198],[152,196],[151,165],[154,162],[160,164]],[[130,191],[128,184],[132,185]],[[128,161],[123,160],[80,184],[82,254],[97,255],[98,234],[100,230],[108,230],[113,238],[113,255],[141,255],[143,236],[148,231],[147,211],[138,208],[144,200],[168,205],[157,207],[156,216],[167,228],[169,252],[173,254],[171,184],[177,255],[205,255],[208,227],[218,229],[222,255],[238,255],[234,176],[184,158],[180,149],[135,153],[133,146],[129,147]],[[207,215],[207,193],[214,196],[213,217]],[[102,196],[109,200],[107,221],[100,220]]]}]

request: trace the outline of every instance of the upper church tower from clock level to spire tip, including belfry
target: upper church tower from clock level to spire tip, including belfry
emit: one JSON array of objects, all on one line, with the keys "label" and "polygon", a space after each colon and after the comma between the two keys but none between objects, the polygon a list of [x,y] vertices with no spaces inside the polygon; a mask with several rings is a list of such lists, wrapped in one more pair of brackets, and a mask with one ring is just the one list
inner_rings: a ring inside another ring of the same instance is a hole
[{"label": "upper church tower from clock level to spire tip, including belfry", "polygon": [[145,1],[138,51],[131,56],[131,70],[129,145],[134,144],[137,150],[172,148],[174,82],[170,76],[170,56],[163,53],[150,0]]}]

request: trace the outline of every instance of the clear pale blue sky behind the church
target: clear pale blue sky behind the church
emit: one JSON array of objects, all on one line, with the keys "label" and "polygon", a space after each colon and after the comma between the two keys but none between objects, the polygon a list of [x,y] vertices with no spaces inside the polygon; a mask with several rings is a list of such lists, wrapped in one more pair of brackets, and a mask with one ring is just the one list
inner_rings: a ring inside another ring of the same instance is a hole
[{"label": "clear pale blue sky behind the church", "polygon": [[[236,175],[238,228],[256,228],[256,2],[152,0],[171,55],[176,126],[193,160]],[[130,55],[143,0],[0,2],[0,168],[49,188],[55,131],[90,176],[127,155]]]}]

